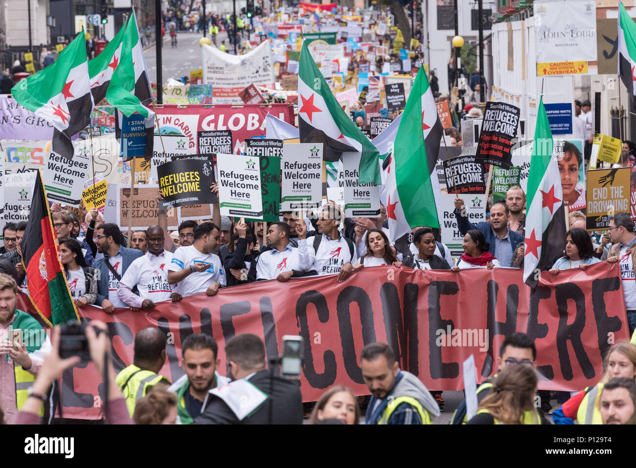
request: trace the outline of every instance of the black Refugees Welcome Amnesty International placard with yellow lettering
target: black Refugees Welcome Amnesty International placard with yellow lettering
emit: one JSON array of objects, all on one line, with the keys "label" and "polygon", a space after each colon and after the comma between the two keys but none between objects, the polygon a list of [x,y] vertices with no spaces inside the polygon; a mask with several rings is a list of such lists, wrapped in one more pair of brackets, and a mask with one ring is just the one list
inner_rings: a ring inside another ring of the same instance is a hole
[{"label": "black Refugees Welcome Amnesty International placard with yellow lettering", "polygon": [[210,190],[214,182],[212,161],[195,158],[172,161],[158,166],[157,175],[162,208],[218,203],[218,197]]}]

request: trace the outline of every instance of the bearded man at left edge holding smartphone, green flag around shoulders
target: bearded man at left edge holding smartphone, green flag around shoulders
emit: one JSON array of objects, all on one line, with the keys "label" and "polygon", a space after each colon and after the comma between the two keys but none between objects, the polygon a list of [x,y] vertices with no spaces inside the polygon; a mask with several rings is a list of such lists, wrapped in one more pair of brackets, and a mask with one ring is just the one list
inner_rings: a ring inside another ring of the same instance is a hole
[{"label": "bearded man at left edge holding smartphone, green flag around shoulders", "polygon": [[16,310],[17,292],[15,280],[0,273],[0,407],[7,421],[22,409],[27,390],[52,349],[38,320]]}]

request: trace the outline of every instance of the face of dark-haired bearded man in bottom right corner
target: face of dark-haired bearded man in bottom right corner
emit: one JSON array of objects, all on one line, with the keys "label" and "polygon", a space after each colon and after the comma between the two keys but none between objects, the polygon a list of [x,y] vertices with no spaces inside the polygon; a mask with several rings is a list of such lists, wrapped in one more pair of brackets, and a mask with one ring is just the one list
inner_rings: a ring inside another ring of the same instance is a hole
[{"label": "face of dark-haired bearded man in bottom right corner", "polygon": [[604,424],[636,424],[636,382],[612,378],[603,387],[598,409]]}]

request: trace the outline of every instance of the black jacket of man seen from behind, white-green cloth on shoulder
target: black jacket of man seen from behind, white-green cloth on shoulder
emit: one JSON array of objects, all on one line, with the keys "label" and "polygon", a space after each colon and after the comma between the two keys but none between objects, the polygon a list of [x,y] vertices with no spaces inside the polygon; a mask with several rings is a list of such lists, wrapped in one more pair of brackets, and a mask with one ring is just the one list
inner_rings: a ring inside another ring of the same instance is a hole
[{"label": "black jacket of man seen from behind, white-green cloth on shoulder", "polygon": [[[270,371],[264,369],[258,371],[249,382],[258,387],[261,392],[270,395]],[[232,409],[219,397],[208,397],[208,403],[195,419],[195,424],[267,424],[269,417],[269,404],[273,404],[273,424],[302,424],[303,423],[303,399],[300,387],[294,380],[282,377],[273,377],[272,396],[263,402],[260,408],[252,415],[239,421]]]}]

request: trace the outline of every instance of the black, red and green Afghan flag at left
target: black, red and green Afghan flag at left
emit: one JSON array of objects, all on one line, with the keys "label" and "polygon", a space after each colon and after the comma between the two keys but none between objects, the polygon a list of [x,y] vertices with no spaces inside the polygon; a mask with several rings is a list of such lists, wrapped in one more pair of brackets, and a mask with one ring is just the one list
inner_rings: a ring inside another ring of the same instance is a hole
[{"label": "black, red and green Afghan flag at left", "polygon": [[27,272],[31,301],[49,326],[79,320],[64,277],[51,219],[42,172],[38,169],[31,213],[22,237],[22,264]]}]

